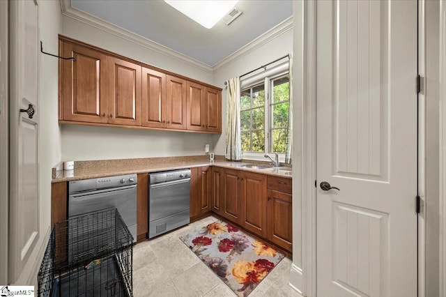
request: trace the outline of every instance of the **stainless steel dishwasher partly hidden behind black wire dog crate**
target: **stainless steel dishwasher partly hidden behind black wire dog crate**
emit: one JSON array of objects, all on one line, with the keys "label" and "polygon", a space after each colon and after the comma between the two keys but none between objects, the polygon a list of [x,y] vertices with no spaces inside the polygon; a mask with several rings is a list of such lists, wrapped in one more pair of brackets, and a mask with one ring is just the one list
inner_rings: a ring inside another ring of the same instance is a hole
[{"label": "stainless steel dishwasher partly hidden behind black wire dog crate", "polygon": [[68,216],[116,207],[133,241],[137,240],[137,175],[84,179],[68,183]]}]

